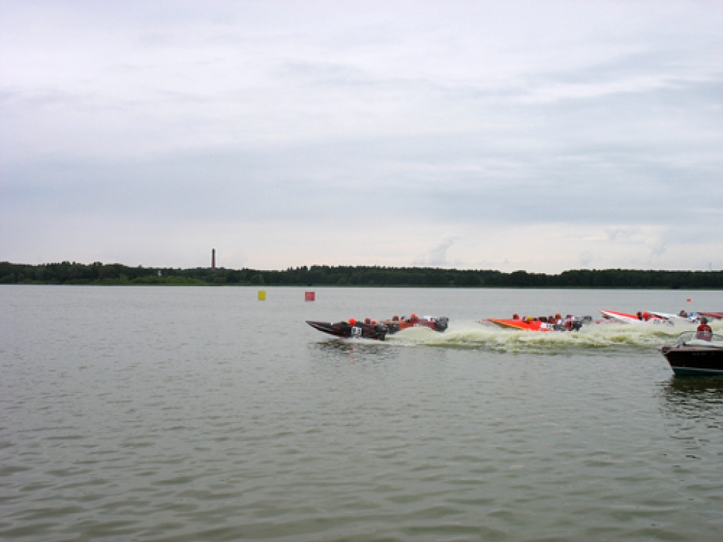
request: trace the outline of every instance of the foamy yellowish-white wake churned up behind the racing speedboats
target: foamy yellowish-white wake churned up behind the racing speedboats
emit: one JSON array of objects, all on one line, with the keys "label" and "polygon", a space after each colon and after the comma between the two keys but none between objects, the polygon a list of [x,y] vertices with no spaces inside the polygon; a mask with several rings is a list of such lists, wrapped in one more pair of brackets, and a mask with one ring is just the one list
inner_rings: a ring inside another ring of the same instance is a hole
[{"label": "foamy yellowish-white wake churned up behind the racing speedboats", "polygon": [[[722,322],[714,327],[723,328]],[[672,325],[590,324],[578,332],[505,330],[476,322],[453,322],[445,333],[413,329],[387,337],[400,346],[471,348],[505,353],[599,353],[600,350],[650,350],[672,343],[681,332],[695,330],[687,322]]]}]

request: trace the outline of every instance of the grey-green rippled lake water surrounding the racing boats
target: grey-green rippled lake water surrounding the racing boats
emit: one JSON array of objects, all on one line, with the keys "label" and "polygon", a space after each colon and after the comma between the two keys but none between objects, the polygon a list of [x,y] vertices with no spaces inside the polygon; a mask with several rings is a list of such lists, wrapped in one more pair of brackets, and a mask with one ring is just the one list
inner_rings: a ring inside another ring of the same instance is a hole
[{"label": "grey-green rippled lake water surrounding the racing boats", "polygon": [[[723,380],[655,350],[685,326],[475,322],[723,292],[305,289],[0,286],[0,539],[723,538]],[[304,323],[412,311],[450,330]]]}]

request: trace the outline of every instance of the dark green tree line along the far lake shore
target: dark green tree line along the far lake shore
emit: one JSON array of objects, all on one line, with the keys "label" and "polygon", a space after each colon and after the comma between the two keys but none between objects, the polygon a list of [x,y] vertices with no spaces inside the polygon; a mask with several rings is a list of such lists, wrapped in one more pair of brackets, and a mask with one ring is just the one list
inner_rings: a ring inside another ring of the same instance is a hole
[{"label": "dark green tree line along the far lake shore", "polygon": [[559,275],[438,267],[289,267],[283,271],[0,262],[1,284],[416,286],[458,288],[723,288],[723,271],[570,270]]}]

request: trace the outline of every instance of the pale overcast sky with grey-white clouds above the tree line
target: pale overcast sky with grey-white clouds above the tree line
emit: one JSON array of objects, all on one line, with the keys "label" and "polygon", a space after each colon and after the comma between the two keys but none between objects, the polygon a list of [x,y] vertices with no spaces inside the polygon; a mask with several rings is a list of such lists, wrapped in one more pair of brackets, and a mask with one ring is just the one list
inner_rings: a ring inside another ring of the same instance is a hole
[{"label": "pale overcast sky with grey-white clouds above the tree line", "polygon": [[723,3],[0,1],[0,260],[723,268]]}]

